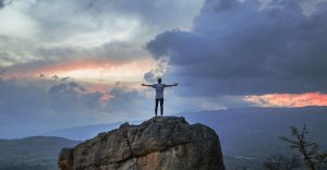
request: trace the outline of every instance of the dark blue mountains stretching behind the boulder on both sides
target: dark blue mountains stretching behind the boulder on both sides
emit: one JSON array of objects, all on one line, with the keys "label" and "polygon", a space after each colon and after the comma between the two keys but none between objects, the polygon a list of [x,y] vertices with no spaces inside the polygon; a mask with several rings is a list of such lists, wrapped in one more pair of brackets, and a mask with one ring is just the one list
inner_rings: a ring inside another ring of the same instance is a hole
[{"label": "dark blue mountains stretching behind the boulder on both sides", "polygon": [[[257,168],[268,156],[291,150],[279,136],[290,136],[290,125],[310,131],[310,139],[327,149],[327,107],[304,108],[239,108],[183,112],[190,123],[203,123],[213,127],[220,137],[228,169]],[[58,151],[96,136],[100,132],[117,129],[121,123],[98,124],[52,131],[46,135],[60,137],[27,137],[0,141],[1,162],[50,162],[56,165]],[[132,122],[131,124],[138,124]],[[61,138],[65,137],[65,138]],[[66,139],[70,138],[70,139]],[[74,141],[71,141],[74,139]]]}]

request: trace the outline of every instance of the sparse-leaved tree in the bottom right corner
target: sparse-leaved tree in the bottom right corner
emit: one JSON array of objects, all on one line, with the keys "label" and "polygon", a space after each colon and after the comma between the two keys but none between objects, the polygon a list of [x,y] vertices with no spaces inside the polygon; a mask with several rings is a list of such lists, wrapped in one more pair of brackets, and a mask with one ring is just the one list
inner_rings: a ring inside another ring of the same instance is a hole
[{"label": "sparse-leaved tree in the bottom right corner", "polygon": [[305,134],[307,133],[305,124],[301,131],[295,126],[291,126],[291,135],[295,138],[280,136],[280,139],[289,143],[292,149],[298,149],[303,156],[305,165],[311,170],[320,170],[322,166],[327,162],[327,150],[319,153],[319,145],[317,143],[306,141]]}]

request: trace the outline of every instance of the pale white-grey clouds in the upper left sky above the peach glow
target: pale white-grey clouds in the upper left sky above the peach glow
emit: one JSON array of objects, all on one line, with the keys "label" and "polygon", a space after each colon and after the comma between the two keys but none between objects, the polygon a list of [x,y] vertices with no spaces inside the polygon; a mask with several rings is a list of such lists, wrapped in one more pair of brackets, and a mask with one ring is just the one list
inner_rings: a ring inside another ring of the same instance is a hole
[{"label": "pale white-grey clouds in the upper left sky above the peach glow", "polygon": [[85,60],[154,63],[144,44],[165,29],[190,28],[202,2],[1,1],[7,7],[0,12],[5,23],[0,27],[0,69],[28,74]]}]

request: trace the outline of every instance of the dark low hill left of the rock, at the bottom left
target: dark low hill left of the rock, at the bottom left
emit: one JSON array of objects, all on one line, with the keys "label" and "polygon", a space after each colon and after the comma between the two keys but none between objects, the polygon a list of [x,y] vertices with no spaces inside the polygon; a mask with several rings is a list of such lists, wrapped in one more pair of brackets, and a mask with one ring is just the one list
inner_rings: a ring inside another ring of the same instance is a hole
[{"label": "dark low hill left of the rock, at the bottom left", "polygon": [[63,147],[73,147],[78,141],[53,136],[33,136],[20,139],[0,139],[0,169],[57,169],[57,157]]}]

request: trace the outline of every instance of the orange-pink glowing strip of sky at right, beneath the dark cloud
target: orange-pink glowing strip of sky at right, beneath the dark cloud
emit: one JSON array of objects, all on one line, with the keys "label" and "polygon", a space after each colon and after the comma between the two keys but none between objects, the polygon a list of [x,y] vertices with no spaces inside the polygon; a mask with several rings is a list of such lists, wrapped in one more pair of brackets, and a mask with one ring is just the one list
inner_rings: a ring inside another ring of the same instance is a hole
[{"label": "orange-pink glowing strip of sky at right, beneath the dark cloud", "polygon": [[327,106],[327,94],[266,94],[262,96],[245,96],[245,100],[262,107]]}]

